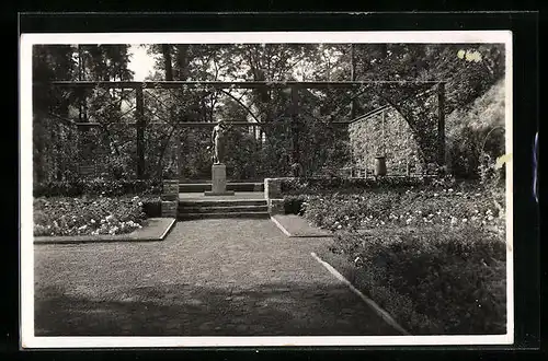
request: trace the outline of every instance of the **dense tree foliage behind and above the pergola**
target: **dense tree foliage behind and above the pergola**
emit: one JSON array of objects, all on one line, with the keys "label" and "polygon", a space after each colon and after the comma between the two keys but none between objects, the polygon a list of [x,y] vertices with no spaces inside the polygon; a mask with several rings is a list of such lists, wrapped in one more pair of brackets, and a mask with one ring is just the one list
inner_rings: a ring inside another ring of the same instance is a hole
[{"label": "dense tree foliage behind and above the pergola", "polygon": [[[445,110],[450,113],[484,93],[504,73],[504,51],[496,44],[158,44],[146,47],[157,59],[156,73],[150,80],[349,80],[352,72],[356,80],[396,81],[364,84],[353,91],[300,90],[297,121],[293,126],[288,89],[263,88],[249,92],[206,86],[147,89],[145,120],[161,125],[147,125],[145,131],[146,177],[176,177],[178,162],[184,164],[183,173],[187,176],[207,173],[204,163],[209,156],[202,143],[185,144],[193,140],[187,140],[176,124],[210,123],[219,117],[273,124],[263,127],[255,137],[243,128],[235,131],[230,166],[236,178],[285,176],[290,164],[297,161],[308,175],[344,166],[351,162],[347,137],[331,123],[349,118],[351,98],[354,98],[354,115],[387,103],[395,105],[413,131],[424,135],[423,148],[435,147],[435,94],[425,93],[427,86],[398,81],[446,80]],[[128,70],[128,45],[48,45],[35,49],[33,77],[37,81],[130,80],[133,77]],[[36,182],[62,180],[77,175],[71,165],[75,162],[69,160],[89,164],[101,159],[104,165],[101,173],[105,177],[133,176],[137,164],[136,136],[135,129],[125,123],[135,121],[134,93],[90,90],[84,94],[82,90],[44,91],[39,86],[35,86],[34,93]],[[427,95],[420,95],[423,93]],[[96,121],[102,127],[96,135],[89,132],[69,139],[68,131],[59,129],[47,117],[48,113]],[[85,139],[88,137],[91,138]],[[207,143],[207,138],[201,141]],[[455,144],[458,143],[457,140]],[[293,152],[296,148],[298,154]],[[190,158],[189,162],[180,160],[181,153]],[[461,153],[468,158],[468,153]],[[293,159],[293,154],[298,159]],[[247,158],[250,163],[243,164]],[[472,163],[470,168],[476,168]]]}]

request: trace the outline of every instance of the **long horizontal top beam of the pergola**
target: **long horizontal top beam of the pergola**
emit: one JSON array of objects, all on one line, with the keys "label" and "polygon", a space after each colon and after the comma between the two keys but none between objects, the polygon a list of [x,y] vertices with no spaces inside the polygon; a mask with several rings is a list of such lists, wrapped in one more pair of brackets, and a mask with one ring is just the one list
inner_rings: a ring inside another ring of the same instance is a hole
[{"label": "long horizontal top beam of the pergola", "polygon": [[[102,89],[260,89],[260,88],[355,88],[370,84],[439,84],[445,81],[53,81],[50,84],[61,88],[102,88]],[[35,83],[39,85],[41,83]]]}]

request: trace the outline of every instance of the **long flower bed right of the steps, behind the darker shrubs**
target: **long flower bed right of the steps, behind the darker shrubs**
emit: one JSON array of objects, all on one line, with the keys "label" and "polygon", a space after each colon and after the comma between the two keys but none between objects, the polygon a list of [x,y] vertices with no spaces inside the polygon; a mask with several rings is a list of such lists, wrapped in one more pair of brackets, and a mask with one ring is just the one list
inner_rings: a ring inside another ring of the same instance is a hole
[{"label": "long flower bed right of the steps, behind the darker shrubs", "polygon": [[[370,189],[359,194],[287,196],[287,209],[323,229],[375,229],[471,224],[504,229],[491,191],[471,189]],[[296,205],[297,203],[297,205]]]}]

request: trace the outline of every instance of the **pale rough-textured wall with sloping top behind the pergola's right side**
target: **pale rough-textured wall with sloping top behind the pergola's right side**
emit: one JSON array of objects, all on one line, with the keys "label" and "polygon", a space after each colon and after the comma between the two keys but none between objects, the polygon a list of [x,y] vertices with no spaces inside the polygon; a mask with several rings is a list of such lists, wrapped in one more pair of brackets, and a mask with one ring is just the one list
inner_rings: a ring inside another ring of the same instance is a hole
[{"label": "pale rough-textured wall with sloping top behind the pergola's right side", "polygon": [[[354,166],[372,171],[375,156],[385,155],[388,175],[420,172],[419,145],[409,124],[393,108],[356,120],[349,126]],[[383,126],[384,123],[384,126]]]}]

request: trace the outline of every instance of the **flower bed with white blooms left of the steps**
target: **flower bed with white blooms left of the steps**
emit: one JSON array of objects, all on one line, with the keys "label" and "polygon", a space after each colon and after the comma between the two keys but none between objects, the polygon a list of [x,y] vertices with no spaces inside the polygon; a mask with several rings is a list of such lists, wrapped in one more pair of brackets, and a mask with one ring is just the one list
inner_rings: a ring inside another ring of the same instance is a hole
[{"label": "flower bed with white blooms left of the steps", "polygon": [[52,197],[34,199],[34,235],[99,235],[130,233],[146,223],[139,196]]}]

